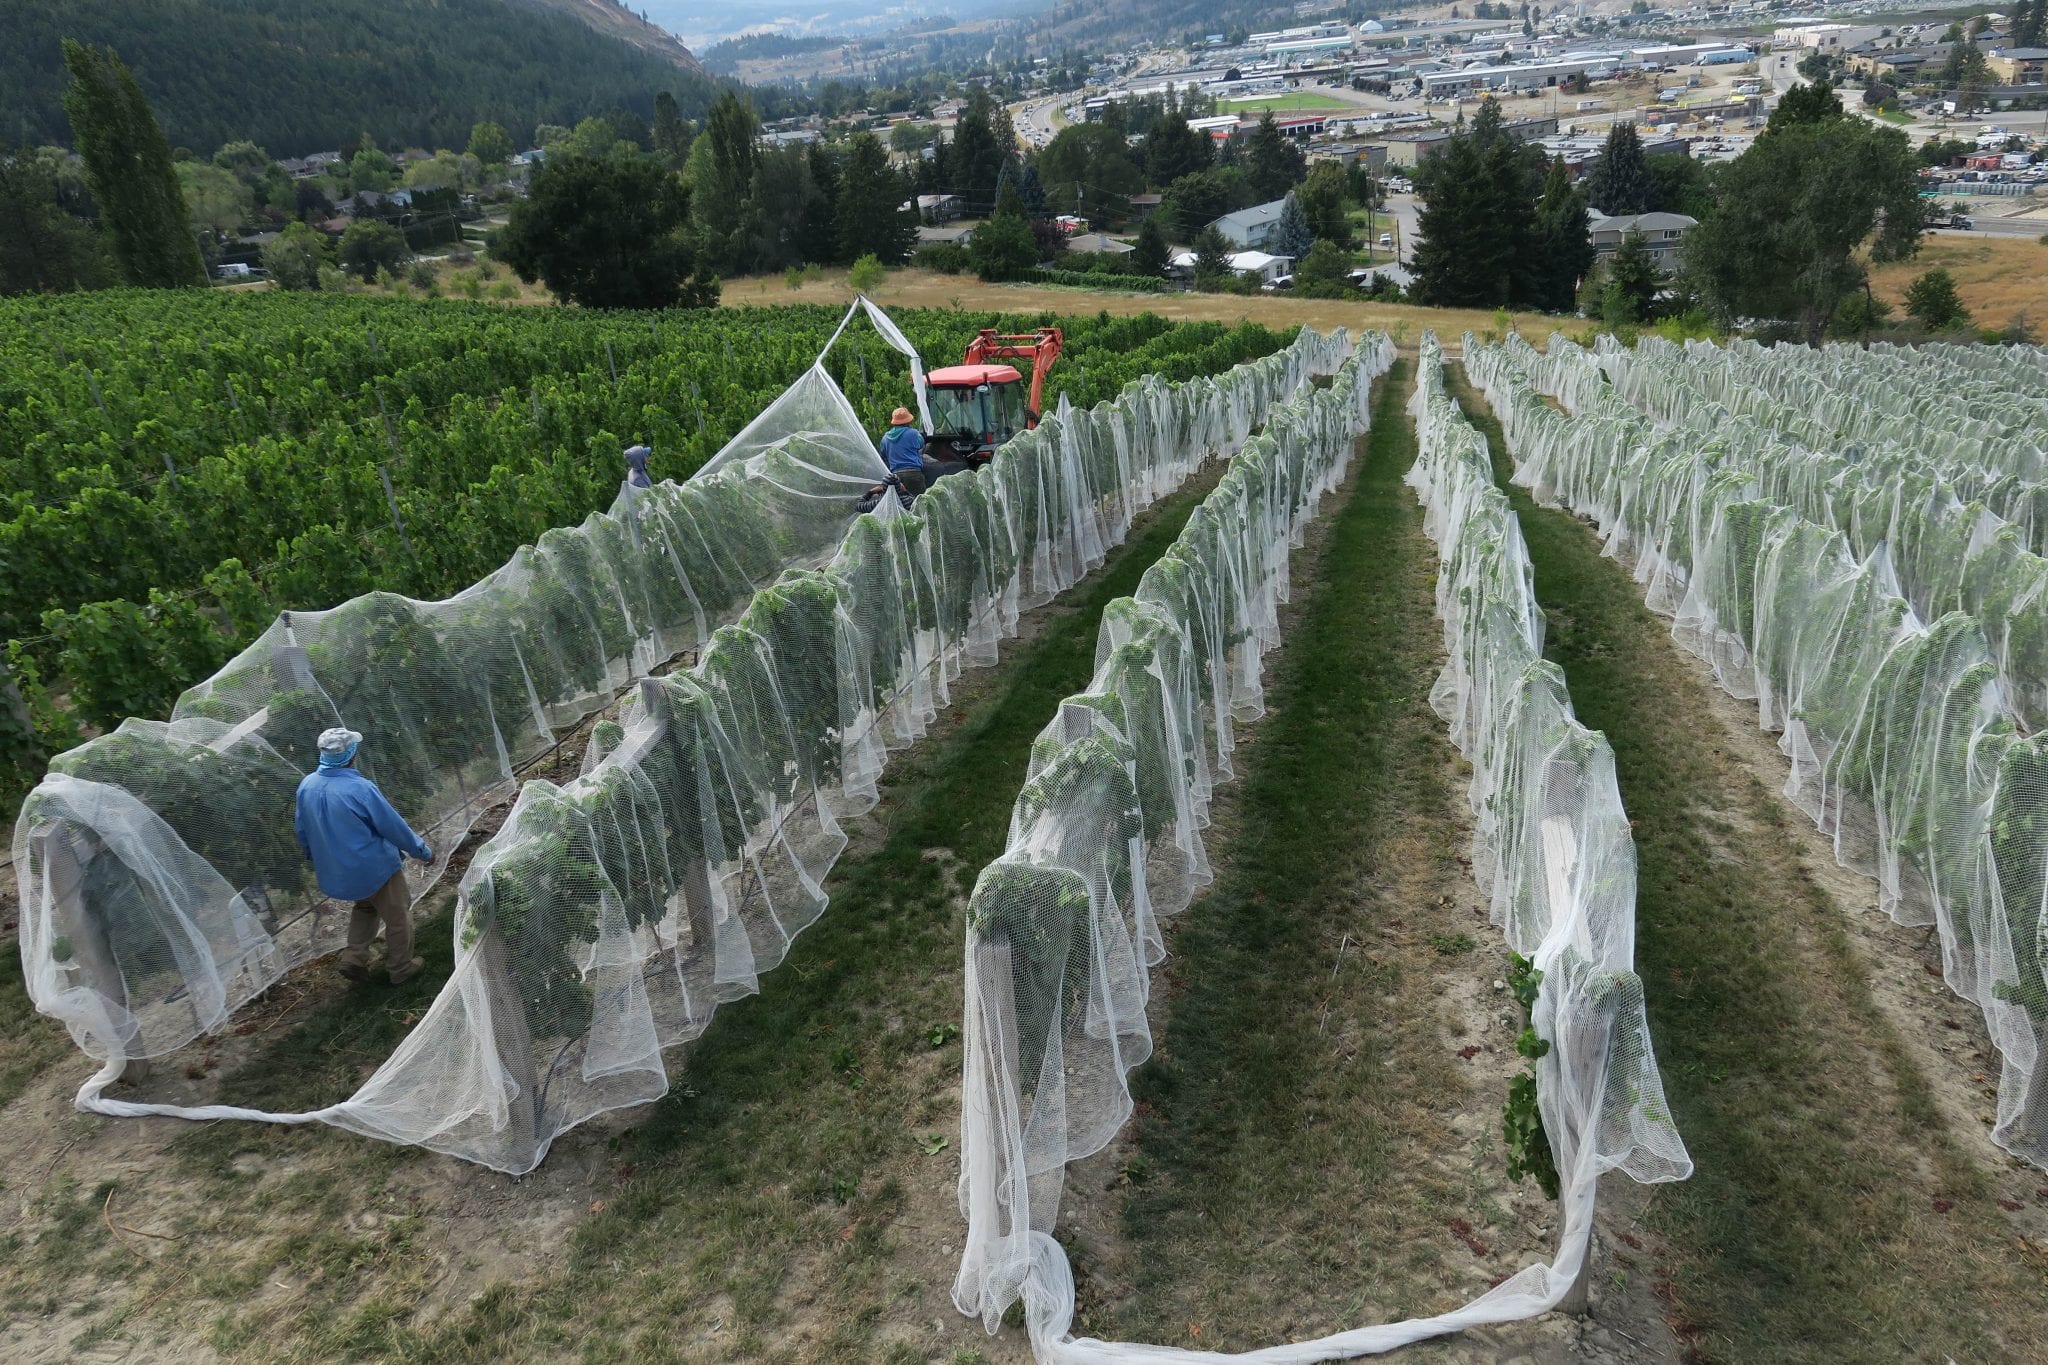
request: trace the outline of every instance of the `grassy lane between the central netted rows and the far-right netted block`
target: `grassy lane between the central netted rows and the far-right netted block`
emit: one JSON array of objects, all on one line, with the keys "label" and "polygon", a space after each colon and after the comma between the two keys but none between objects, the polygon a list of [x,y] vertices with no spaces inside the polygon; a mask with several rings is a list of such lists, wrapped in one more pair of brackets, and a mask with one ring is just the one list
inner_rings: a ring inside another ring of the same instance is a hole
[{"label": "grassy lane between the central netted rows and the far-right netted block", "polygon": [[[1499,424],[1452,393],[1507,463]],[[1638,864],[1636,970],[1698,1162],[1651,1220],[1673,1326],[1716,1361],[2040,1359],[2042,1263],[1872,999],[1794,821],[1731,755],[1710,679],[1575,518],[1509,489],[1579,718],[1614,745]]]}]

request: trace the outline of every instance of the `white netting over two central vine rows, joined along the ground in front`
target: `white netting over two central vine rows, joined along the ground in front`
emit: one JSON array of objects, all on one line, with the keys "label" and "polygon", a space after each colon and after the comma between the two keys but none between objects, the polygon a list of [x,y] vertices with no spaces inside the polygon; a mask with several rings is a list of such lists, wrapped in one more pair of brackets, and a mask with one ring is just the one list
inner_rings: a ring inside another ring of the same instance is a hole
[{"label": "white netting over two central vine rows, joined along the ground in front", "polygon": [[1071,1338],[1073,1273],[1053,1228],[1067,1162],[1130,1115],[1126,1074],[1151,1054],[1145,1007],[1159,921],[1210,880],[1202,845],[1235,726],[1264,712],[1290,548],[1346,473],[1393,362],[1376,336],[1325,391],[1284,403],[1155,563],[1110,604],[1096,675],[1038,735],[1006,853],[967,919],[961,1212],[954,1304],[993,1332],[1020,1297],[1040,1361],[1321,1361],[1554,1306],[1587,1252],[1602,1171],[1683,1179],[1663,1107],[1634,954],[1634,849],[1612,755],[1571,718],[1540,659],[1528,559],[1485,448],[1450,411],[1425,342],[1411,481],[1444,544],[1452,661],[1436,690],[1473,757],[1479,866],[1509,941],[1544,968],[1536,1027],[1554,1046],[1540,1103],[1565,1173],[1565,1232],[1460,1310],[1247,1355]]}]

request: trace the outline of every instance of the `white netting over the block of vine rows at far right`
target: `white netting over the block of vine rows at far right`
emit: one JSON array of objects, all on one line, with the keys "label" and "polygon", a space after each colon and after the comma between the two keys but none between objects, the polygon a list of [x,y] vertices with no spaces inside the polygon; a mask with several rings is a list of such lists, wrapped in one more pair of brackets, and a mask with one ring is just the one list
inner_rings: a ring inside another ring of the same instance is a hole
[{"label": "white netting over the block of vine rows at far right", "polygon": [[2048,356],[1466,356],[1516,483],[1602,526],[1679,645],[1757,700],[1835,857],[1892,919],[1939,927],[2003,1058],[1991,1136],[2048,1166],[2048,563],[2028,548]]}]

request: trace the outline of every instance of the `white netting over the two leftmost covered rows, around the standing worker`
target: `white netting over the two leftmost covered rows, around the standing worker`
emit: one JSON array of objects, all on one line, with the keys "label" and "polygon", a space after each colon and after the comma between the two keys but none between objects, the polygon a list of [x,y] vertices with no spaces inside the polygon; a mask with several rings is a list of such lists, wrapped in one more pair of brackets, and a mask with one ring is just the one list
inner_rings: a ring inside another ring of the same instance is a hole
[{"label": "white netting over the two leftmost covered rows, around the standing worker", "polygon": [[[31,990],[109,1058],[80,1107],[328,1121],[524,1173],[565,1128],[662,1095],[662,1048],[754,990],[823,911],[838,821],[872,804],[885,751],[924,731],[958,669],[991,663],[1022,608],[1346,350],[1305,332],[1214,379],[1063,407],[915,514],[879,516],[854,514],[879,456],[813,368],[735,438],[752,452],[627,489],[453,602],[281,618],[168,726],[66,755],[25,806]],[[698,641],[690,671],[645,675]],[[367,774],[444,855],[510,796],[522,755],[621,692],[582,778],[518,788],[463,880],[453,978],[352,1099],[281,1115],[102,1093],[125,1058],[219,1027],[340,945],[346,907],[317,900],[291,833],[307,735],[369,735]],[[123,739],[156,749],[92,753]]]}]

